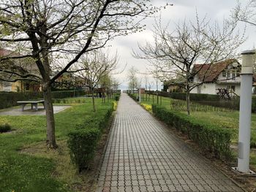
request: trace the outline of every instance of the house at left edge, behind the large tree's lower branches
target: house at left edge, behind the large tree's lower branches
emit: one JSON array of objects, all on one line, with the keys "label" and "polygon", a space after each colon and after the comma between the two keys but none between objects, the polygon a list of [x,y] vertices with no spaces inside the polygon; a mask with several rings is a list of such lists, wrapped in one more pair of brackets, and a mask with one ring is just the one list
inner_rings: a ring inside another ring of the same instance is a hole
[{"label": "house at left edge, behind the large tree's lower branches", "polygon": [[[0,58],[16,55],[20,54],[15,53],[12,50],[0,48]],[[29,59],[18,59],[15,61],[13,61],[12,59],[7,59],[1,61],[0,67],[2,69],[9,69],[12,72],[19,72],[23,74],[26,74],[28,72],[39,74],[36,64],[33,61],[29,61]],[[10,74],[0,72],[0,79],[8,79],[8,77],[10,77],[8,75]],[[16,82],[7,82],[0,80],[0,91],[41,91],[41,85],[38,82],[31,82],[26,80],[18,80]]]}]

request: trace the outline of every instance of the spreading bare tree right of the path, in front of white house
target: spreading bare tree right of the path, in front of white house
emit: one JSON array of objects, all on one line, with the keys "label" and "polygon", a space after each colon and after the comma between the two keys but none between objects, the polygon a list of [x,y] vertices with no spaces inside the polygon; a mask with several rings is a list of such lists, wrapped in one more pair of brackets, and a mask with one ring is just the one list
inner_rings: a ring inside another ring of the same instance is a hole
[{"label": "spreading bare tree right of the path, in front of white house", "polygon": [[[158,61],[159,72],[164,76],[182,77],[182,82],[173,83],[186,90],[189,115],[189,93],[204,82],[194,83],[192,79],[206,64],[233,57],[236,48],[244,42],[244,36],[240,37],[235,31],[236,24],[232,24],[224,20],[220,28],[217,22],[212,24],[210,20],[200,20],[196,16],[195,23],[185,20],[184,23],[178,23],[174,31],[168,31],[168,26],[162,27],[159,21],[154,28],[154,43],[139,45],[142,53],[135,53],[135,56]],[[202,65],[192,70],[196,63]],[[204,77],[207,75],[208,70]]]}]

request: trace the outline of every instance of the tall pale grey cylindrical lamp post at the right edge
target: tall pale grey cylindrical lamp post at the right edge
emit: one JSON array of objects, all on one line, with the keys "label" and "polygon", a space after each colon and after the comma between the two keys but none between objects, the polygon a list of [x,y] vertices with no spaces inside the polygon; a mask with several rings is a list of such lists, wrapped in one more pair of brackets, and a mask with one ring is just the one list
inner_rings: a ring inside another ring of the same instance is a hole
[{"label": "tall pale grey cylindrical lamp post at the right edge", "polygon": [[241,53],[241,96],[239,111],[238,172],[249,173],[249,153],[252,115],[252,74],[255,51]]}]

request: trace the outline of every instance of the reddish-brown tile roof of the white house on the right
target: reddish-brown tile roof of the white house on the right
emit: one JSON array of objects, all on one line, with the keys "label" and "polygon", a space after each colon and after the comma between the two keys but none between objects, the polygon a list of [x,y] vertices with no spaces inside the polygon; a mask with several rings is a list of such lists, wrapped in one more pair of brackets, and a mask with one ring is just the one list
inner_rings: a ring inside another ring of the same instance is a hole
[{"label": "reddish-brown tile roof of the white house on the right", "polygon": [[219,77],[228,65],[237,62],[236,59],[227,59],[216,64],[195,64],[193,72],[197,72],[197,77],[200,82],[214,82]]}]

